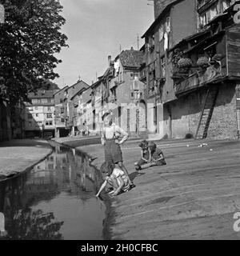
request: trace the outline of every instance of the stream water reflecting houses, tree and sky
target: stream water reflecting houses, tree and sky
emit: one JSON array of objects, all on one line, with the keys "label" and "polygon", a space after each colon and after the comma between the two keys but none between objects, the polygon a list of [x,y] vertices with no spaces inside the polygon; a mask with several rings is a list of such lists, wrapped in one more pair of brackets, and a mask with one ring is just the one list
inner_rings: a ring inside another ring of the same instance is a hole
[{"label": "stream water reflecting houses, tree and sky", "polygon": [[55,145],[33,170],[1,182],[6,239],[101,240],[106,208],[94,197],[98,175],[83,154]]}]

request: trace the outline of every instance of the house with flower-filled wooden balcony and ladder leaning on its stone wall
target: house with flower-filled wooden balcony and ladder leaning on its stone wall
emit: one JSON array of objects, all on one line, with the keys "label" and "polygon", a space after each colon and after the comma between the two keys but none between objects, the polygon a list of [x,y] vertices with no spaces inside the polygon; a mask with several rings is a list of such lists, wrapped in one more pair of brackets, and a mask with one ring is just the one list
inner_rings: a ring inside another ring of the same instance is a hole
[{"label": "house with flower-filled wooden balcony and ladder leaning on its stone wall", "polygon": [[[198,1],[198,32],[170,55],[176,99],[166,102],[173,138],[239,138],[240,26],[235,1]],[[176,65],[188,59],[190,66]],[[181,61],[180,61],[181,62]]]}]

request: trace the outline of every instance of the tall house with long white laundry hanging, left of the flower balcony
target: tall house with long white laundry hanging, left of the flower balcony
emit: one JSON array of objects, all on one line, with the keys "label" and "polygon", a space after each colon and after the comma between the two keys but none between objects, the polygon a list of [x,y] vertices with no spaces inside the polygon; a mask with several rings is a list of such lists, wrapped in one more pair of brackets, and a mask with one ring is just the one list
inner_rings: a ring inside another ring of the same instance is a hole
[{"label": "tall house with long white laundry hanging, left of the flower balcony", "polygon": [[[174,82],[171,78],[173,65],[170,49],[182,38],[197,32],[196,2],[193,0],[154,0],[155,20],[143,34],[144,62],[141,80],[146,82],[147,128],[149,134],[162,138],[172,137],[170,110],[165,102],[175,99]],[[168,113],[169,114],[166,114]]]}]

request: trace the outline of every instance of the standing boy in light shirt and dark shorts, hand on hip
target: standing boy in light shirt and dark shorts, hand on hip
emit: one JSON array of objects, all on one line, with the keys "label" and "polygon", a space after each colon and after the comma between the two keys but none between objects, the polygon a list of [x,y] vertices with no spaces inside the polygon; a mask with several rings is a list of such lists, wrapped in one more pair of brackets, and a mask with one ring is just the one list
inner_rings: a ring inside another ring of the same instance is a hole
[{"label": "standing boy in light shirt and dark shorts, hand on hip", "polygon": [[[121,127],[114,124],[112,116],[109,112],[102,116],[104,129],[102,133],[101,142],[104,146],[105,162],[118,164],[119,168],[124,171],[126,177],[130,181],[130,186],[133,187],[134,183],[131,182],[128,171],[122,162],[122,145],[128,139],[129,135]],[[122,136],[122,140],[119,138]]]}]

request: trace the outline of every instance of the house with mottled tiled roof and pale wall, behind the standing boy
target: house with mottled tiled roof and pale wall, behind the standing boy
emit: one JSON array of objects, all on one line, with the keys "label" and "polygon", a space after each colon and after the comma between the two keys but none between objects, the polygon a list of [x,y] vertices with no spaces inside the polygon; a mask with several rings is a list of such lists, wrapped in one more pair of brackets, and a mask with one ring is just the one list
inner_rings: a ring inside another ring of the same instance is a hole
[{"label": "house with mottled tiled roof and pale wall, behind the standing boy", "polygon": [[142,51],[122,50],[111,63],[108,78],[107,107],[112,110],[114,122],[130,135],[146,133],[146,102],[144,82],[140,81]]}]

